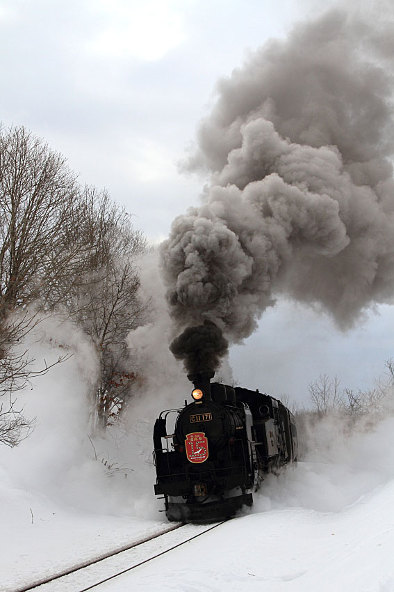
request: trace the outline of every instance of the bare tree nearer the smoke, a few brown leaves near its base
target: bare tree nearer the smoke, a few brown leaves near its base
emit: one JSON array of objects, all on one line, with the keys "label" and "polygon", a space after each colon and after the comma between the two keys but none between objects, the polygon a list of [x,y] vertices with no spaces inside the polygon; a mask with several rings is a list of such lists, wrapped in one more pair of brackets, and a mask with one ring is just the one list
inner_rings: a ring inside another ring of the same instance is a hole
[{"label": "bare tree nearer the smoke, a few brown leaves near its base", "polygon": [[79,223],[79,231],[88,237],[89,261],[69,300],[69,316],[90,336],[99,356],[92,418],[95,428],[106,428],[138,380],[130,369],[126,336],[145,320],[148,310],[147,302],[138,297],[136,263],[146,240],[134,230],[127,212],[94,187],[85,187],[81,196]]}]

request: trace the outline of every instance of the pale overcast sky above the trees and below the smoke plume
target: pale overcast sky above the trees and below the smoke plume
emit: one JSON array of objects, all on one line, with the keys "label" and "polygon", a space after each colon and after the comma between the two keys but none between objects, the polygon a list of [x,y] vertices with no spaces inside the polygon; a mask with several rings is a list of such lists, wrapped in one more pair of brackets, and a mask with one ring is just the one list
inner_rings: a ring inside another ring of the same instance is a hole
[{"label": "pale overcast sky above the trees and below the smoke plume", "polygon": [[[215,83],[247,52],[334,2],[290,0],[0,0],[0,118],[63,153],[82,182],[106,187],[158,242],[198,203],[183,176]],[[393,10],[391,8],[391,10]],[[370,387],[394,355],[393,307],[346,334],[327,316],[280,302],[233,348],[245,387],[305,400],[320,373]]]}]

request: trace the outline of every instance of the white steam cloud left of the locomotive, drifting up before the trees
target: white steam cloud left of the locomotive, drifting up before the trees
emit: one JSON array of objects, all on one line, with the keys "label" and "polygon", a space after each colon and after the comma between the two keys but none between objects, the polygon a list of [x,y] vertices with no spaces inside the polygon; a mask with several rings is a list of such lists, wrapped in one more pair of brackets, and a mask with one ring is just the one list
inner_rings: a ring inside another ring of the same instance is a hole
[{"label": "white steam cloud left of the locomotive, drifting up before the trees", "polygon": [[135,429],[115,426],[105,438],[90,438],[99,373],[92,343],[74,324],[55,317],[40,322],[28,338],[35,359],[31,369],[42,368],[44,359],[51,364],[59,355],[72,357],[34,377],[17,394],[16,408],[24,407],[26,417],[35,417],[35,430],[14,449],[1,446],[2,476],[10,487],[28,490],[33,505],[49,499],[59,508],[157,519],[161,505],[153,493],[151,418],[162,403],[144,416],[136,401]]}]

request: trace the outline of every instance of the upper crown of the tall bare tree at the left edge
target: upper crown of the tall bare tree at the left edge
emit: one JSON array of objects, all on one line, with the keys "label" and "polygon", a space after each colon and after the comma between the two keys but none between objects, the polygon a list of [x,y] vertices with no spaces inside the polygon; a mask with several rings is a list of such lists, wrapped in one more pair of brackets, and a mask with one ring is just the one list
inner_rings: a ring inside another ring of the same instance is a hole
[{"label": "upper crown of the tall bare tree at the left edge", "polygon": [[24,127],[0,128],[0,318],[74,279],[78,194],[62,155]]}]

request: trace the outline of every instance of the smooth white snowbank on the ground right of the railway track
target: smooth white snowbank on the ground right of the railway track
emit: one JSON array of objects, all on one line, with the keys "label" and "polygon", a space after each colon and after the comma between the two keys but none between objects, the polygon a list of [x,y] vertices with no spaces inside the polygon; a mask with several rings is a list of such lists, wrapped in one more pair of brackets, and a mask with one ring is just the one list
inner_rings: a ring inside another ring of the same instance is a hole
[{"label": "smooth white snowbank on the ground right of the railway track", "polygon": [[100,586],[107,592],[393,592],[394,482],[334,513],[238,517]]}]

